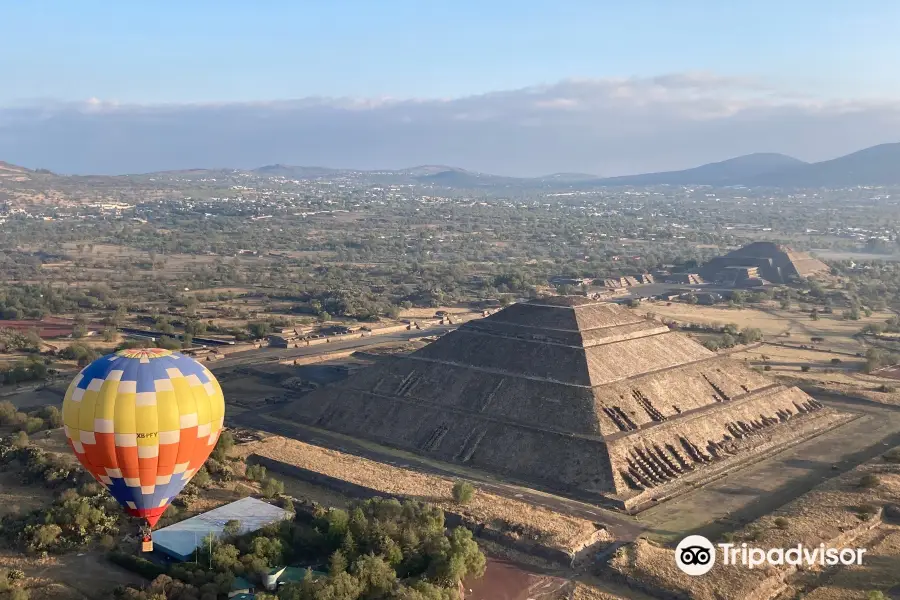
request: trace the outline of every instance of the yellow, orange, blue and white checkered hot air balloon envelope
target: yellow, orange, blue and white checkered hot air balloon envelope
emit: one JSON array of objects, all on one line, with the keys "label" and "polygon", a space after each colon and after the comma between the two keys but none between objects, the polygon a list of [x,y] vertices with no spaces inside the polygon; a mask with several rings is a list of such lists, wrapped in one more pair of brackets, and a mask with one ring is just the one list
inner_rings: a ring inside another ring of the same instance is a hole
[{"label": "yellow, orange, blue and white checkered hot air balloon envelope", "polygon": [[63,400],[78,460],[151,527],[209,458],[224,417],[222,388],[209,369],[160,348],[98,358]]}]

